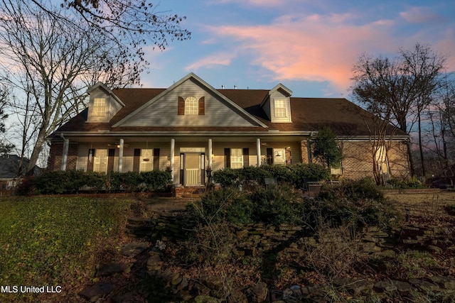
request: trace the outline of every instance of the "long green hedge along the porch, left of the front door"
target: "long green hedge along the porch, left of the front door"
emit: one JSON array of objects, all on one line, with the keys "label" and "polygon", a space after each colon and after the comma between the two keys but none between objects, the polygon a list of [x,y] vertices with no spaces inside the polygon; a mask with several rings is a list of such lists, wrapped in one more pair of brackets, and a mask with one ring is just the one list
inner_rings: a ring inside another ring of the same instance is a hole
[{"label": "long green hedge along the porch, left of the front door", "polygon": [[169,172],[83,172],[82,170],[49,171],[29,177],[18,186],[16,194],[71,194],[85,188],[91,191],[146,192],[164,189],[171,181]]}]

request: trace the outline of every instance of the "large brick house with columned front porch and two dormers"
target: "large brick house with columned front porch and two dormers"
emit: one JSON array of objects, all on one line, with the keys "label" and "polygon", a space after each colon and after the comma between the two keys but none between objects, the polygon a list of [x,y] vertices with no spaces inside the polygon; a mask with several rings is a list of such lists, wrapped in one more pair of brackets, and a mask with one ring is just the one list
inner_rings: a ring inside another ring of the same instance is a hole
[{"label": "large brick house with columned front porch and two dormers", "polygon": [[[341,98],[297,98],[272,89],[215,89],[193,73],[167,89],[90,88],[88,108],[50,136],[48,169],[110,172],[172,170],[174,184],[207,180],[206,168],[308,163],[311,137],[338,136],[343,178],[373,176],[374,117]],[[392,126],[385,174],[409,174],[409,137]],[[383,148],[382,151],[385,149]]]}]

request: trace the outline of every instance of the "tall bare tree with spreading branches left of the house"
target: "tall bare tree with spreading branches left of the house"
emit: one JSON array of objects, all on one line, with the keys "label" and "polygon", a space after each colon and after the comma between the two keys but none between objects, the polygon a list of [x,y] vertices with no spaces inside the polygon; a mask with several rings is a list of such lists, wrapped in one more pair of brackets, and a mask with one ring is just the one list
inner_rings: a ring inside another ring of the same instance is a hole
[{"label": "tall bare tree with spreading branches left of the house", "polygon": [[[107,14],[114,22],[114,13],[108,13],[107,9],[115,11],[114,4],[119,5],[122,1],[109,2],[103,9],[96,9],[95,2],[89,2],[80,5],[91,5],[95,9],[93,13]],[[124,2],[129,7],[137,5]],[[36,165],[45,138],[85,107],[88,87],[98,81],[108,87],[137,83],[148,65],[140,48],[146,43],[146,36],[141,36],[140,27],[129,31],[134,29],[134,16],[128,15],[131,23],[125,23],[124,16],[119,16],[115,21],[117,25],[109,26],[108,21],[102,23],[95,16],[88,18],[86,14],[91,10],[80,11],[80,1],[65,2],[70,8],[79,8],[77,14],[51,3],[0,1],[0,77],[14,92],[14,112],[23,136],[22,155],[27,146],[32,145],[28,169]],[[82,21],[80,16],[85,16]],[[153,16],[150,18],[154,19]],[[173,21],[168,22],[171,26]],[[172,33],[172,27],[160,29],[162,25],[158,21],[151,24],[156,26],[157,35],[151,43],[164,48],[166,35]],[[148,33],[152,35],[151,30]],[[183,35],[177,30],[176,34]],[[132,41],[134,35],[138,39],[142,37],[139,42]]]}]

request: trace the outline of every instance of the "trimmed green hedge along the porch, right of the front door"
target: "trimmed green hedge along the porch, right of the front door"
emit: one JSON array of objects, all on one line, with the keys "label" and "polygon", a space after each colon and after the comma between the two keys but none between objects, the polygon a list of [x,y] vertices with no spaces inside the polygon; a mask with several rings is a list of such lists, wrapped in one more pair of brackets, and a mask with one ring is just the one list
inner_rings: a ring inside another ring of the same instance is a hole
[{"label": "trimmed green hedge along the porch, right of the front door", "polygon": [[302,187],[304,182],[328,180],[329,177],[330,171],[315,163],[225,168],[213,172],[213,181],[222,187],[238,187],[248,182],[264,184],[265,178],[277,178],[277,182],[290,182],[296,187]]}]

